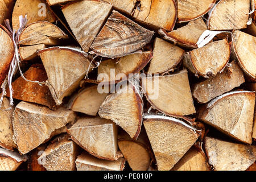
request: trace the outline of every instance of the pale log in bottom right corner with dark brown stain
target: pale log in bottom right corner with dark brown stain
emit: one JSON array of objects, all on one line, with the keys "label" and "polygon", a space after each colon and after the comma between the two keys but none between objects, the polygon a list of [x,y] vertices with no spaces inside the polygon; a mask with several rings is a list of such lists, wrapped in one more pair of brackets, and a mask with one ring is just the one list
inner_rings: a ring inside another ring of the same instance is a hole
[{"label": "pale log in bottom right corner with dark brown stain", "polygon": [[245,171],[256,160],[256,146],[205,138],[209,164],[216,171]]}]

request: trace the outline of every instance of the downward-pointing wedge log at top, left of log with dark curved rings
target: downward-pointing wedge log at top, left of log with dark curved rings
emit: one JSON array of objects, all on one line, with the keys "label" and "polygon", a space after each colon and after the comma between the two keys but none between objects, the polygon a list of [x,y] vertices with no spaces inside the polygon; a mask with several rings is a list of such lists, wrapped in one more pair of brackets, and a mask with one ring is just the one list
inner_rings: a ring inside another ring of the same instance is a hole
[{"label": "downward-pointing wedge log at top, left of log with dark curved rings", "polygon": [[62,8],[69,27],[85,52],[89,51],[111,10],[112,5],[108,3],[88,0],[71,2]]}]

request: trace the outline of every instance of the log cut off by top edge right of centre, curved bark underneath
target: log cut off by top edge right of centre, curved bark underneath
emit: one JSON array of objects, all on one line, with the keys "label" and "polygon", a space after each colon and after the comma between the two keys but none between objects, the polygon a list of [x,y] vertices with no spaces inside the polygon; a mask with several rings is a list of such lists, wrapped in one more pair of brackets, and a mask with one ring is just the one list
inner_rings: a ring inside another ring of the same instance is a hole
[{"label": "log cut off by top edge right of centre, curved bark underneath", "polygon": [[189,22],[208,13],[216,0],[177,0],[177,22]]}]

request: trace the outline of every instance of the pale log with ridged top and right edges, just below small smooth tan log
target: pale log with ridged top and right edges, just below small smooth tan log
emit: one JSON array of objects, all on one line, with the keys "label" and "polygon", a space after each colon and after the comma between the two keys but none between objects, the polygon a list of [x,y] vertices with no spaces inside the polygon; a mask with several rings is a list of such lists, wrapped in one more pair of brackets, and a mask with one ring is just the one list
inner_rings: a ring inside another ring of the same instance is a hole
[{"label": "pale log with ridged top and right edges, just below small smooth tan log", "polygon": [[117,160],[117,125],[100,117],[80,118],[70,129],[71,135],[80,147],[100,159]]}]

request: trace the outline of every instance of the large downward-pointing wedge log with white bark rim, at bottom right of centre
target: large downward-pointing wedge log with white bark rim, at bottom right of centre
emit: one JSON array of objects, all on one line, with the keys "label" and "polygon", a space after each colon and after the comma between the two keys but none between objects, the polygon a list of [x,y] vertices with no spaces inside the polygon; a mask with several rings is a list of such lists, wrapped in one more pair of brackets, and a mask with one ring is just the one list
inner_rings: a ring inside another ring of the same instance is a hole
[{"label": "large downward-pointing wedge log with white bark rim, at bottom right of centre", "polygon": [[168,171],[196,142],[199,134],[185,122],[172,117],[148,115],[143,122],[159,171]]}]

